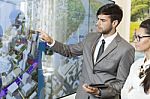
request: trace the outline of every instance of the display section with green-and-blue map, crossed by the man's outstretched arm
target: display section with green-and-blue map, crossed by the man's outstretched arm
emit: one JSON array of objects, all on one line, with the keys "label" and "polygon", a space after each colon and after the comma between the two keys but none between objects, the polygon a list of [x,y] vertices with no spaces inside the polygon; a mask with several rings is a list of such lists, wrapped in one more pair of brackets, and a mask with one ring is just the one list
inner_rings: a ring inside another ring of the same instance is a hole
[{"label": "display section with green-and-blue map, crossed by the man's outstretched arm", "polygon": [[[59,42],[78,43],[87,33],[96,31],[96,12],[100,6],[110,2],[109,0],[51,0],[48,21],[50,27],[46,32]],[[45,4],[48,2],[45,1]],[[45,82],[40,92],[41,99],[42,97],[56,99],[75,93],[79,85],[82,56],[67,58],[57,53],[52,55],[48,53],[43,52],[41,57]]]}]

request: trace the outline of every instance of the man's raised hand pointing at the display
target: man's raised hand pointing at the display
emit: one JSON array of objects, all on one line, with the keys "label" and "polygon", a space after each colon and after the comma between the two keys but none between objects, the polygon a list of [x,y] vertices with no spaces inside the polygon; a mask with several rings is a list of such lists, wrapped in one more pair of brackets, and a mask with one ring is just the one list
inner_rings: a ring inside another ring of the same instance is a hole
[{"label": "man's raised hand pointing at the display", "polygon": [[50,37],[47,33],[45,33],[44,31],[42,30],[37,30],[37,32],[39,32],[39,37],[44,40],[45,42],[49,43],[49,44],[52,44],[53,43],[53,39],[52,37]]}]

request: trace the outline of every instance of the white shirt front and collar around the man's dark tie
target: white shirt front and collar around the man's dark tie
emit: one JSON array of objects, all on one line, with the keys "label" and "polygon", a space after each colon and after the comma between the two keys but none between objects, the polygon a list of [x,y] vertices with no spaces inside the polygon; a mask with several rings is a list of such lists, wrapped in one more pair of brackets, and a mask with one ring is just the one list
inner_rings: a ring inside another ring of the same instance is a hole
[{"label": "white shirt front and collar around the man's dark tie", "polygon": [[94,51],[94,63],[96,62],[96,58],[97,58],[97,55],[98,55],[98,52],[99,52],[99,48],[102,44],[102,40],[104,39],[105,40],[105,46],[104,46],[104,51],[105,49],[108,47],[108,45],[112,42],[112,40],[117,36],[117,32],[114,33],[113,35],[107,37],[107,38],[104,38],[103,34],[101,36],[101,38],[99,39],[97,45],[96,45],[96,48],[95,48],[95,51]]}]

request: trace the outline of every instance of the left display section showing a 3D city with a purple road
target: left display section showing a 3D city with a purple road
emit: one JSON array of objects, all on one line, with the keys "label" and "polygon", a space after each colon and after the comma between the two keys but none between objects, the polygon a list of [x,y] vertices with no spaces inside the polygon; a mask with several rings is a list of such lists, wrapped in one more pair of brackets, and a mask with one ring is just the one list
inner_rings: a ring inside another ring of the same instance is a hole
[{"label": "left display section showing a 3D city with a purple road", "polygon": [[37,99],[38,34],[24,0],[0,0],[0,99]]}]

